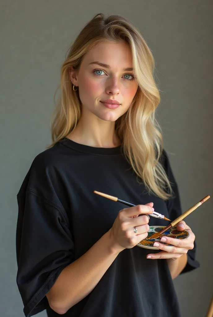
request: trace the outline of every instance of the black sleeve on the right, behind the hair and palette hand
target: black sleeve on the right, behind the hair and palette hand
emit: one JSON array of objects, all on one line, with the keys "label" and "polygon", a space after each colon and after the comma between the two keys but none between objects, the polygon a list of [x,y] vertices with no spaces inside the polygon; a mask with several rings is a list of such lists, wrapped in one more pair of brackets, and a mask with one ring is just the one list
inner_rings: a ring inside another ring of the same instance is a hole
[{"label": "black sleeve on the right, behind the hair and palette hand", "polygon": [[[181,208],[178,185],[176,183],[176,180],[175,180],[174,174],[172,172],[171,165],[170,165],[170,162],[169,162],[169,159],[168,159],[168,156],[167,156],[165,150],[163,150],[163,153],[162,153],[162,162],[161,163],[163,164],[163,166],[165,168],[165,171],[167,173],[167,176],[169,178],[171,188],[173,191],[172,197],[166,201],[166,205],[167,205],[170,219],[174,220],[177,217],[179,217],[183,212],[182,212],[182,208]],[[194,242],[194,248],[187,252],[187,257],[188,257],[187,264],[186,264],[185,268],[183,269],[183,271],[181,272],[181,274],[188,272],[188,271],[191,271],[191,270],[198,268],[200,266],[199,262],[195,258],[196,257],[196,242]]]}]

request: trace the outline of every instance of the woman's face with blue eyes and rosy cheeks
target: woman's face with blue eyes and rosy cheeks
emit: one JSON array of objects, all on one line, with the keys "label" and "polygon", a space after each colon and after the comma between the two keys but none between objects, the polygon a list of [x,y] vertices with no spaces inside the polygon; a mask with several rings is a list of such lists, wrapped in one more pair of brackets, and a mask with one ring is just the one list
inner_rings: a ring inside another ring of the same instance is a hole
[{"label": "woman's face with blue eyes and rosy cheeks", "polygon": [[[82,114],[90,112],[101,120],[115,121],[126,113],[138,89],[131,68],[131,49],[124,42],[108,41],[90,50],[78,73],[70,74],[79,89]],[[107,99],[117,100],[119,105],[103,102]]]}]

